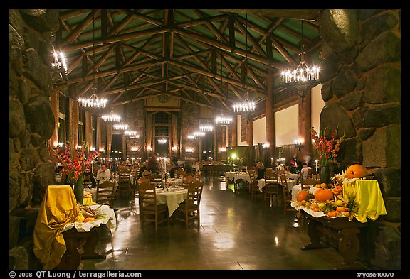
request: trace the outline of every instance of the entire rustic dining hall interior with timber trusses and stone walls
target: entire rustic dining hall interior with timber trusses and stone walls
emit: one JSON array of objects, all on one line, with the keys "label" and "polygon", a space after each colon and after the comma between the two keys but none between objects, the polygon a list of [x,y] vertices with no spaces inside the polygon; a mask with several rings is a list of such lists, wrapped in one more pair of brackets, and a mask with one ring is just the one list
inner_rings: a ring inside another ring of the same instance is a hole
[{"label": "entire rustic dining hall interior with timber trusses and stone walls", "polygon": [[399,275],[401,9],[9,9],[9,269]]}]

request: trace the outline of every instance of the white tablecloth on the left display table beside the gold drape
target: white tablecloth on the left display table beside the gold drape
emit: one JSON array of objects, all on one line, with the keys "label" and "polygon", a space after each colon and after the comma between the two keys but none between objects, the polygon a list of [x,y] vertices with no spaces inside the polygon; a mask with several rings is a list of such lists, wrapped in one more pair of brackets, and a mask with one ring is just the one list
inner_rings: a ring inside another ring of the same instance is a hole
[{"label": "white tablecloth on the left display table beside the gold drape", "polygon": [[110,229],[111,234],[114,233],[115,229],[117,228],[117,219],[115,217],[114,209],[107,205],[89,205],[90,208],[94,209],[95,212],[100,216],[95,221],[88,221],[87,223],[79,223],[75,221],[74,223],[66,224],[63,228],[63,231],[68,231],[69,229],[75,227],[78,232],[87,232],[90,229],[93,229],[95,226],[100,226],[101,224],[105,224],[105,226]]}]

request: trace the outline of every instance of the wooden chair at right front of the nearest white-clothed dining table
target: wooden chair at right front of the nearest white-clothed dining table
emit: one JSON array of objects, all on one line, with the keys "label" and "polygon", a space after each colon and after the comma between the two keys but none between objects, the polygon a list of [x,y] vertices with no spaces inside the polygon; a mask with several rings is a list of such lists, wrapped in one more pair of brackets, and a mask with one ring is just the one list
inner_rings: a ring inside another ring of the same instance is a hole
[{"label": "wooden chair at right front of the nearest white-clothed dining table", "polygon": [[182,217],[177,215],[175,219],[177,221],[183,221],[185,227],[188,228],[190,220],[197,220],[196,228],[199,230],[201,224],[199,207],[201,204],[202,190],[204,189],[204,182],[196,180],[188,185],[188,192],[186,200],[179,204],[178,212],[182,214]]}]

